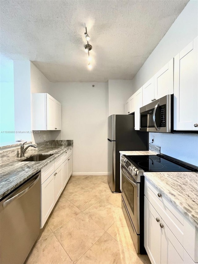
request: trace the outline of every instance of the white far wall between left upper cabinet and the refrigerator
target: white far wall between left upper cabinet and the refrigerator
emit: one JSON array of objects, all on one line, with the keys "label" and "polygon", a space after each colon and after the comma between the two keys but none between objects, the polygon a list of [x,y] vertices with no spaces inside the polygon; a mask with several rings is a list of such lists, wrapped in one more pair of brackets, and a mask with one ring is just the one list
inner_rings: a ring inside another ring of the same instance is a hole
[{"label": "white far wall between left upper cabinet and the refrigerator", "polygon": [[62,107],[59,139],[74,140],[73,175],[107,174],[108,83],[50,85]]}]

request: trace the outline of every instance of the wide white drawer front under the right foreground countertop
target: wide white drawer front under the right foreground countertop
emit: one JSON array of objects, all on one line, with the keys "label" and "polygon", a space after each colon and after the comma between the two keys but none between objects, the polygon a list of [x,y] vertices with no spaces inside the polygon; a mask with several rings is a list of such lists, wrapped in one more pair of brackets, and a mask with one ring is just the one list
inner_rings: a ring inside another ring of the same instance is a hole
[{"label": "wide white drawer front under the right foreground countertop", "polygon": [[174,206],[163,197],[148,180],[145,180],[144,194],[164,220],[171,232],[184,247],[193,261],[198,261],[198,230]]}]

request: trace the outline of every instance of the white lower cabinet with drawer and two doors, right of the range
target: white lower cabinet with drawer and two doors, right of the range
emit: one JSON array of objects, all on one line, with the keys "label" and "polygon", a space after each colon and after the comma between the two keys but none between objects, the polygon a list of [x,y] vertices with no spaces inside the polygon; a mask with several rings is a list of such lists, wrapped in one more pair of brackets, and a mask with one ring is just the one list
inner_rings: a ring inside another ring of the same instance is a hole
[{"label": "white lower cabinet with drawer and two doors, right of the range", "polygon": [[144,247],[151,263],[196,263],[197,230],[147,180],[144,194]]}]

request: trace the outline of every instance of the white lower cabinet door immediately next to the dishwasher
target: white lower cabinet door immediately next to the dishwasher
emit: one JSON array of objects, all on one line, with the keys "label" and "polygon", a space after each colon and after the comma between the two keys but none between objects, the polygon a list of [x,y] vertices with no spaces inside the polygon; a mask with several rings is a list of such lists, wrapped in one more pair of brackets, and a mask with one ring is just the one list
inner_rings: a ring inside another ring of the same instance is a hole
[{"label": "white lower cabinet door immediately next to the dishwasher", "polygon": [[55,205],[54,173],[41,185],[41,228]]}]

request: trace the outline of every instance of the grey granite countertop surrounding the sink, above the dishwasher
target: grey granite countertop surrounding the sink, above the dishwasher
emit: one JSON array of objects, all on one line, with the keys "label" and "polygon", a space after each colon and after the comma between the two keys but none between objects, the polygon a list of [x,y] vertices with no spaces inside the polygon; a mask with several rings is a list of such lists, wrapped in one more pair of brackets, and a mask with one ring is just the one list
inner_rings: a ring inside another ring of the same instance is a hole
[{"label": "grey granite countertop surrounding the sink, above the dishwasher", "polygon": [[[43,161],[36,162],[20,162],[24,158],[16,158],[15,160],[3,164],[0,167],[0,199],[6,194],[10,193],[12,190],[17,188],[20,184],[28,180],[32,175],[40,171],[49,162],[53,161],[55,158],[64,153],[67,149],[71,148],[73,145],[69,146],[45,146],[44,148],[38,150],[33,154],[53,154],[49,158]],[[27,155],[25,158],[32,156]]]}]

